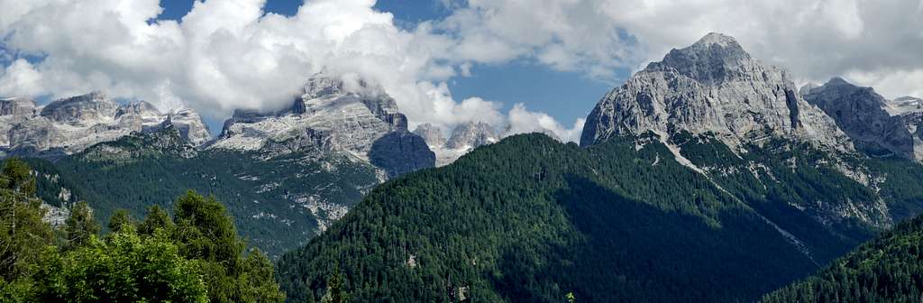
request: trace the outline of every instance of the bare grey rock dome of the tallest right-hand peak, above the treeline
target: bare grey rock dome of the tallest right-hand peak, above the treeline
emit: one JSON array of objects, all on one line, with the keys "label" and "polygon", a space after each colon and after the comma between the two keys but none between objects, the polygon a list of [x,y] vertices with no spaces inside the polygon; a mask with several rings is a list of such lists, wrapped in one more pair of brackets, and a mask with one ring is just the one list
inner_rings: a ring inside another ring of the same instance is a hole
[{"label": "bare grey rock dome of the tallest right-hand peak, above the treeline", "polygon": [[665,137],[713,133],[733,148],[771,136],[851,148],[784,70],[762,65],[718,33],[670,51],[606,94],[587,118],[581,145],[647,131]]}]

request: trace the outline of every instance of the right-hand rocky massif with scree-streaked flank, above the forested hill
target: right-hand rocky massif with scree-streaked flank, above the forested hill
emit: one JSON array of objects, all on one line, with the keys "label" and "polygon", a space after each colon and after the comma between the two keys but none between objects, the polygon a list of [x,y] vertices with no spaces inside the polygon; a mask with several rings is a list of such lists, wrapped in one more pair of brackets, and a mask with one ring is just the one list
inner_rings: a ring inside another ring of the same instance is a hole
[{"label": "right-hand rocky massif with scree-streaked flank, above the forested hill", "polygon": [[[729,191],[758,185],[758,190],[795,193],[751,204],[781,226],[783,235],[790,233],[781,222],[794,216],[832,228],[849,222],[886,228],[905,212],[894,211],[888,197],[875,193],[891,176],[875,172],[877,163],[857,153],[857,146],[907,155],[916,153],[914,144],[900,120],[881,109],[880,96],[836,86],[799,90],[784,70],[762,65],[733,38],[712,33],[670,51],[607,93],[588,116],[581,145],[624,140],[641,150],[660,141],[677,163]],[[845,91],[855,93],[834,97]],[[842,185],[823,194],[797,188],[823,188],[824,182]],[[862,194],[835,194],[846,187]],[[750,203],[761,198],[738,199]],[[767,205],[785,210],[761,211]],[[797,236],[791,238],[798,245]]]}]

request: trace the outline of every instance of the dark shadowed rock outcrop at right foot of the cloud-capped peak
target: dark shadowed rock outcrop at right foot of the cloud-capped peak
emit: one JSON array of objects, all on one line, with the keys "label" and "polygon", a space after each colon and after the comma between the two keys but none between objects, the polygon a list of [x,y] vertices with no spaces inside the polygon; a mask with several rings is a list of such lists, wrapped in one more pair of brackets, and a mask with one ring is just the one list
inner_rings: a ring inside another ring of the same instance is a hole
[{"label": "dark shadowed rock outcrop at right foot of the cloud-capped peak", "polygon": [[436,153],[429,150],[426,140],[406,130],[392,131],[377,139],[368,158],[389,177],[436,165]]}]

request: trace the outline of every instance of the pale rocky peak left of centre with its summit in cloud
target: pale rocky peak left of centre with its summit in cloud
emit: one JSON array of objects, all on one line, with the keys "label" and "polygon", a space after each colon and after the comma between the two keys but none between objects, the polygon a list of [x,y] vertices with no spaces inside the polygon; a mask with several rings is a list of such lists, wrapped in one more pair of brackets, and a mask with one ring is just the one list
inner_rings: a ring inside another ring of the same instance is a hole
[{"label": "pale rocky peak left of centre with its summit in cloud", "polygon": [[[389,173],[432,166],[432,152],[424,139],[407,130],[407,118],[398,111],[394,99],[364,81],[354,86],[318,74],[307,81],[302,95],[288,108],[234,113],[225,122],[221,137],[209,148],[272,150],[273,154],[303,150],[347,152],[366,162],[372,160],[373,149],[377,149],[373,164],[381,164],[379,168]],[[323,139],[316,138],[318,135]],[[384,161],[382,157],[392,159]]]}]

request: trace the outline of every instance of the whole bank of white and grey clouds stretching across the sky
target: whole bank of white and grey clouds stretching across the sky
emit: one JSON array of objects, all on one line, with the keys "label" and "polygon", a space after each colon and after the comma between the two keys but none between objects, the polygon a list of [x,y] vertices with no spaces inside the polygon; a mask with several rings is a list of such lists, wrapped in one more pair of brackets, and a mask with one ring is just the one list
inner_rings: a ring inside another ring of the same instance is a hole
[{"label": "whole bank of white and grey clouds stretching across the sky", "polygon": [[102,89],[222,117],[285,106],[326,67],[378,82],[412,124],[483,120],[569,139],[580,127],[524,105],[503,115],[494,101],[456,101],[445,82],[525,60],[616,84],[710,31],[799,79],[845,76],[888,97],[923,90],[919,1],[439,1],[448,17],[401,28],[374,0],[306,1],[292,17],[266,14],[265,0],[196,1],[180,21],[156,20],[158,0],[0,0],[0,95]]}]

